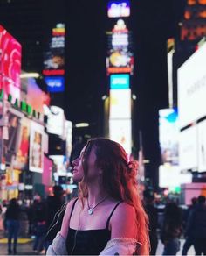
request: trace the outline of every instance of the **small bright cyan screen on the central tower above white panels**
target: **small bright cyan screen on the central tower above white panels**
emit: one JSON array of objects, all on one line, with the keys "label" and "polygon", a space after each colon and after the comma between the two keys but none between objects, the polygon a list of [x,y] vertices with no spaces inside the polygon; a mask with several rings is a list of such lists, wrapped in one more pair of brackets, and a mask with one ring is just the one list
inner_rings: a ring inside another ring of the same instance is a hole
[{"label": "small bright cyan screen on the central tower above white panels", "polygon": [[129,88],[129,75],[118,74],[110,75],[110,89],[128,89]]}]

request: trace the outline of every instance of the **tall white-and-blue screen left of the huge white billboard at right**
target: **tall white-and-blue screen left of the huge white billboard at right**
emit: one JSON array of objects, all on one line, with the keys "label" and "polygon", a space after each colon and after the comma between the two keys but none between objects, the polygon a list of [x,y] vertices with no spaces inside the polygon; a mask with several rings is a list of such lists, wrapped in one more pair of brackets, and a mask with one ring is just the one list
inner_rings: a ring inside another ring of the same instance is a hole
[{"label": "tall white-and-blue screen left of the huge white billboard at right", "polygon": [[159,110],[161,163],[179,163],[179,123],[176,109]]}]

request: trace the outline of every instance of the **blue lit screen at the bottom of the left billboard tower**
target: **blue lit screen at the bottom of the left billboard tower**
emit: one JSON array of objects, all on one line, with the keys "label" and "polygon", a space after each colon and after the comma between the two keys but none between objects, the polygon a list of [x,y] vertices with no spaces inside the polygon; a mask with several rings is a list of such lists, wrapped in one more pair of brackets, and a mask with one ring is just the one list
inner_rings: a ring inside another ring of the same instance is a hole
[{"label": "blue lit screen at the bottom of the left billboard tower", "polygon": [[64,76],[45,76],[45,83],[49,92],[61,92],[65,90]]}]

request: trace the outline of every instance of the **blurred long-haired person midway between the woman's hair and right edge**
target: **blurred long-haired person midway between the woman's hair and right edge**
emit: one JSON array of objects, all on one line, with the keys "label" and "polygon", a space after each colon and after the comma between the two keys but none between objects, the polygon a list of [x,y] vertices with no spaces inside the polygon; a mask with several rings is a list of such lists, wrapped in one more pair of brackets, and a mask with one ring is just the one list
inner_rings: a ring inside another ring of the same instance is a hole
[{"label": "blurred long-haired person midway between the woman's hair and right edge", "polygon": [[176,255],[180,250],[182,234],[182,211],[174,202],[166,205],[161,226],[161,242],[164,245],[162,255]]}]

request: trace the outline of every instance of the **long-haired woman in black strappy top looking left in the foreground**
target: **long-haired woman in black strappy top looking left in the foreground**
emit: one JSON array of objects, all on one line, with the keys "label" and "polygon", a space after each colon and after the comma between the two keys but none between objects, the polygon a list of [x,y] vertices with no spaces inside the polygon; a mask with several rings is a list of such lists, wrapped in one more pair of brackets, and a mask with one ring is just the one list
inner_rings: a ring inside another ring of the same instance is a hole
[{"label": "long-haired woman in black strappy top looking left in the foreground", "polygon": [[91,139],[73,160],[79,197],[68,203],[47,255],[149,254],[148,217],[137,192],[136,162],[120,144]]}]

